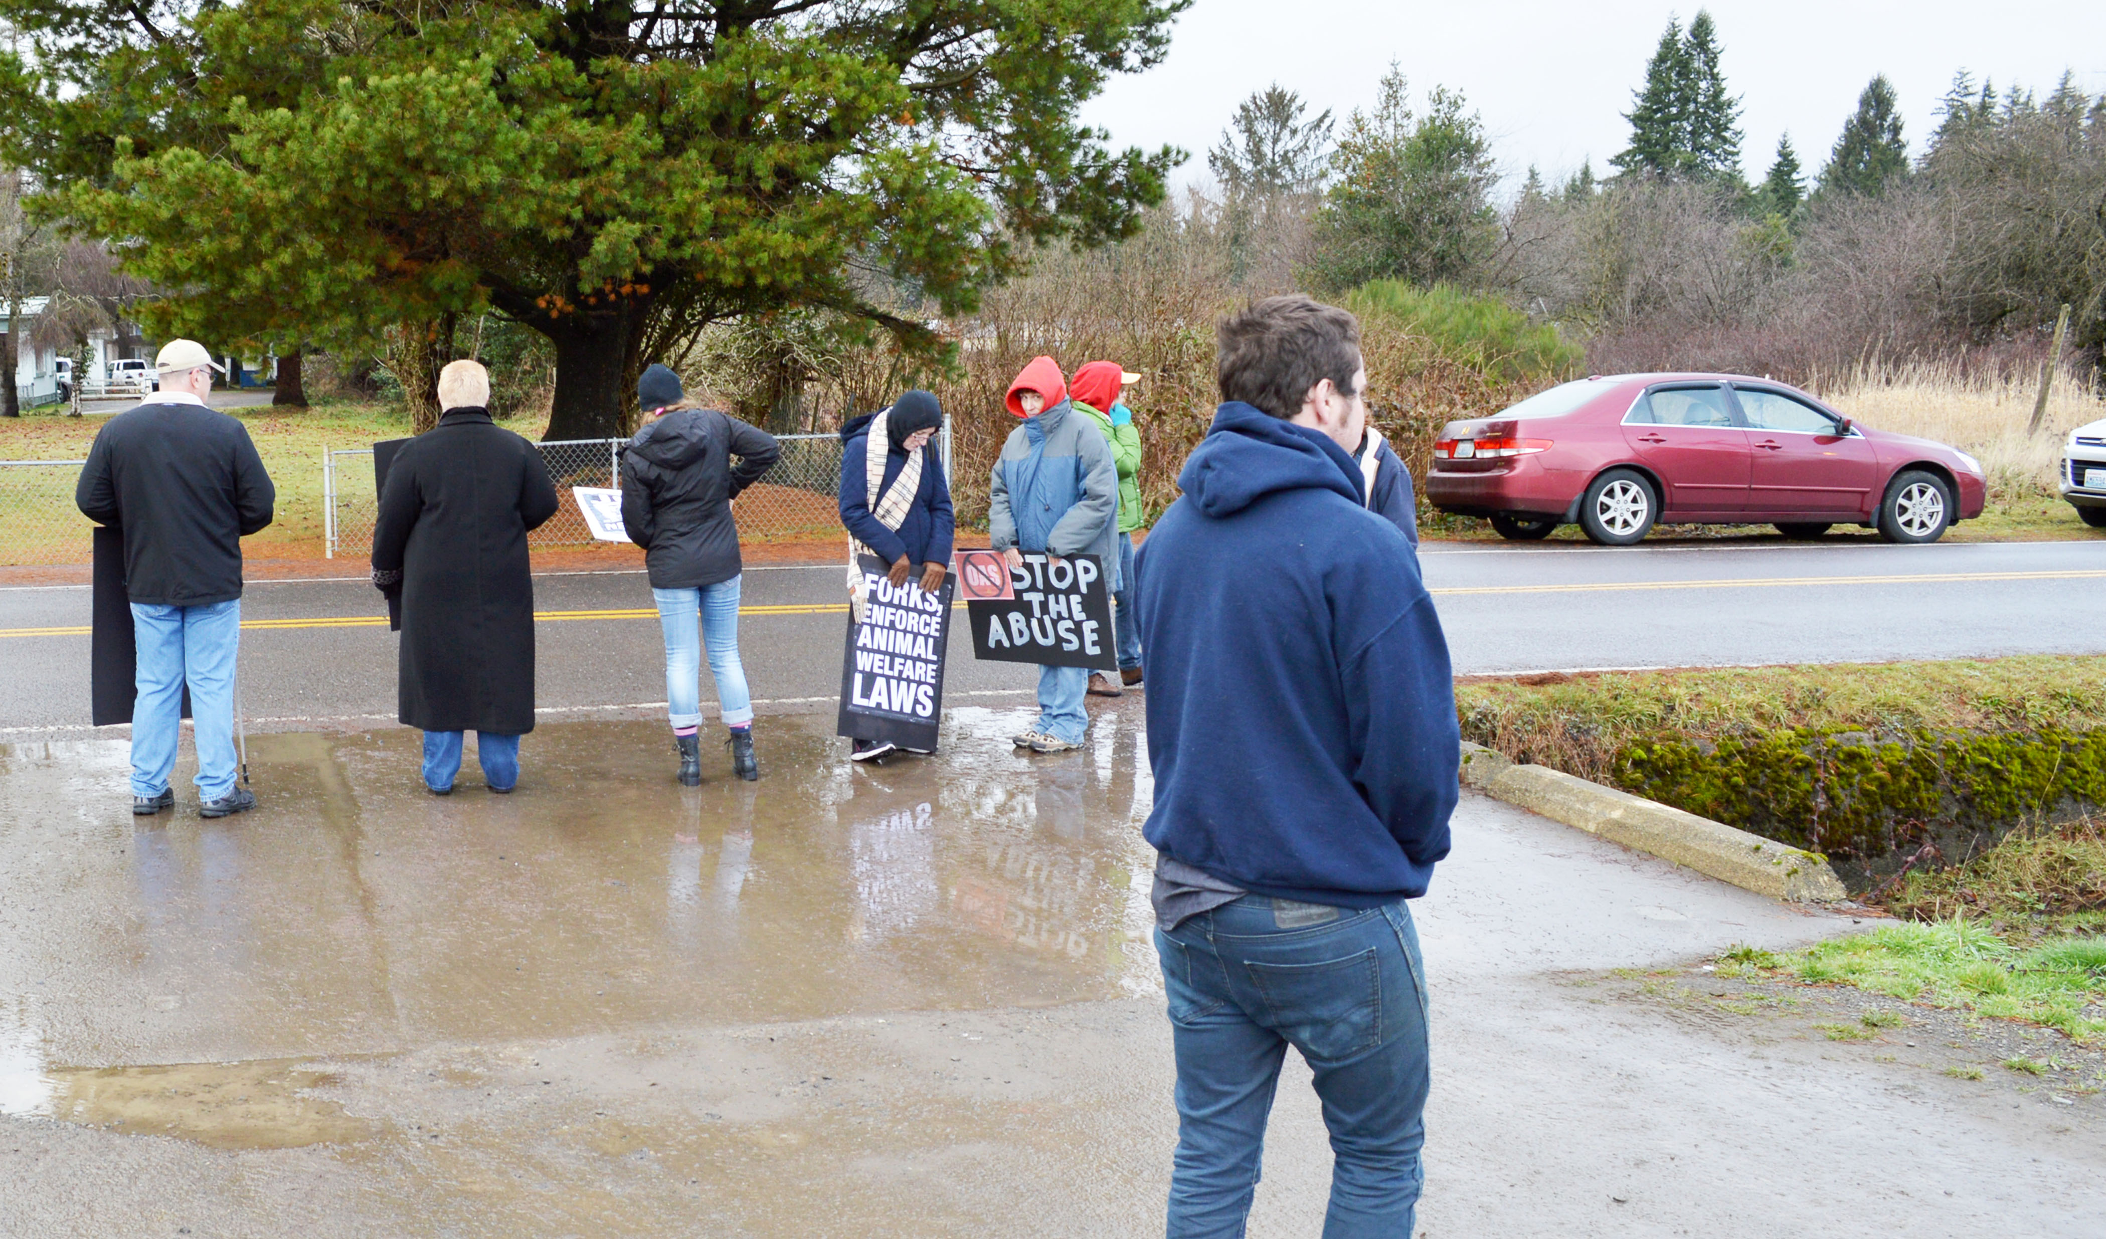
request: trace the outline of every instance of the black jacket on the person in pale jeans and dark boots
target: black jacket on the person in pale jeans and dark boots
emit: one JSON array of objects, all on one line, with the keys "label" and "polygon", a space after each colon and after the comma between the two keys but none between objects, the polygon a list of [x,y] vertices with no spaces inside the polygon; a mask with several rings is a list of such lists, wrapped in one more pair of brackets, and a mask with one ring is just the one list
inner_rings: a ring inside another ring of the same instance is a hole
[{"label": "black jacket on the person in pale jeans and dark boots", "polygon": [[676,409],[636,432],[621,449],[621,525],[644,548],[653,590],[699,590],[739,575],[731,502],[777,455],[773,434],[714,409]]}]

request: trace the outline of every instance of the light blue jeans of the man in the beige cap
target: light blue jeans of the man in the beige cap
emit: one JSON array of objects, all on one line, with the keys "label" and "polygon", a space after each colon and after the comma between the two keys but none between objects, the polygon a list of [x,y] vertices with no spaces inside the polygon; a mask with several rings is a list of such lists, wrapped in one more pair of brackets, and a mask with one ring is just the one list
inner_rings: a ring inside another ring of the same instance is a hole
[{"label": "light blue jeans of the man in the beige cap", "polygon": [[158,796],[175,773],[183,735],[183,683],[198,740],[198,799],[234,790],[234,660],[242,643],[242,601],[204,607],[133,603],[139,662],[133,683],[133,794]]}]

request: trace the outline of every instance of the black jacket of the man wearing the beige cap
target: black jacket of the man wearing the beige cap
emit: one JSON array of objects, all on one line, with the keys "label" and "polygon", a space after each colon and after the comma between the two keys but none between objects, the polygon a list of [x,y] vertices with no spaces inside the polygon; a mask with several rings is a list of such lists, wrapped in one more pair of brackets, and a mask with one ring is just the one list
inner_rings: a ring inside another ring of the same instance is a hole
[{"label": "black jacket of the man wearing the beige cap", "polygon": [[124,592],[162,607],[240,598],[242,537],[276,502],[249,428],[175,400],[105,421],[74,487],[88,520],[124,529]]}]

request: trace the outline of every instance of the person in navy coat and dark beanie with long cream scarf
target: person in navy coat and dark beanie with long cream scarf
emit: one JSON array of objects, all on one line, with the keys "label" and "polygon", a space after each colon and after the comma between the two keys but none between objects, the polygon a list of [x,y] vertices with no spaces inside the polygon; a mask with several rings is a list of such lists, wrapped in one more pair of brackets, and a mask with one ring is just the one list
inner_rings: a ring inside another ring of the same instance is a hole
[{"label": "person in navy coat and dark beanie with long cream scarf", "polygon": [[[929,392],[908,392],[891,409],[863,413],[840,428],[840,523],[849,531],[849,598],[861,607],[857,554],[891,565],[887,579],[903,586],[916,567],[920,588],[943,588],[954,518],[943,459],[931,438],[943,407]],[[872,761],[897,746],[855,740],[849,756]]]}]

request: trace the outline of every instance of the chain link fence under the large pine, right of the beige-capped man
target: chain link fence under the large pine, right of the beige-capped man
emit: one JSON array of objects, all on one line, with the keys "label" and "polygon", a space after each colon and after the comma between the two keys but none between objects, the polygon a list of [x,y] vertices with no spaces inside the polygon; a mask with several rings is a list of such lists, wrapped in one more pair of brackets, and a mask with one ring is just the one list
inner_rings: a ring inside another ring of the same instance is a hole
[{"label": "chain link fence under the large pine, right of the beige-capped man", "polygon": [[[625,438],[537,442],[541,464],[562,502],[529,546],[590,546],[592,531],[571,487],[615,487]],[[840,436],[779,434],[781,457],[731,506],[743,542],[815,542],[840,533]],[[322,508],[331,558],[373,552],[373,449],[331,451],[322,459]]]}]

